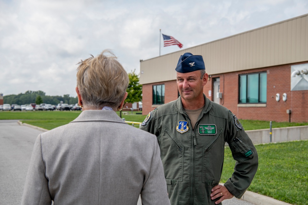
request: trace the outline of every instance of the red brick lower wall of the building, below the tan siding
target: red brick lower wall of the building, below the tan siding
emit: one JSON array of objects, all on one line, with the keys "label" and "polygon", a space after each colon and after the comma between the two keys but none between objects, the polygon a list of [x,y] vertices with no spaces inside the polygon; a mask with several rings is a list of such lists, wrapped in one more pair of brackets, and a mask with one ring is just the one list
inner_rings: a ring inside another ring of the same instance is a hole
[{"label": "red brick lower wall of the building, below the tan siding", "polygon": [[[295,64],[302,64],[301,62]],[[213,78],[220,77],[220,92],[223,97],[220,104],[231,110],[239,119],[247,120],[266,120],[283,122],[289,121],[289,114],[286,110],[290,109],[291,122],[307,122],[308,121],[308,90],[291,91],[291,65],[277,65],[266,68],[251,69],[240,72],[224,73],[212,75],[208,83],[204,86],[204,93],[208,97],[209,90],[212,96],[209,97],[213,101]],[[267,72],[267,98],[266,107],[238,107],[238,79],[240,74]],[[143,85],[143,111],[146,115],[156,106],[152,106],[152,85],[165,84],[165,103],[177,99],[176,81],[167,81],[154,84]],[[276,93],[280,94],[280,101],[275,99]],[[287,94],[287,100],[282,100],[282,94]]]}]

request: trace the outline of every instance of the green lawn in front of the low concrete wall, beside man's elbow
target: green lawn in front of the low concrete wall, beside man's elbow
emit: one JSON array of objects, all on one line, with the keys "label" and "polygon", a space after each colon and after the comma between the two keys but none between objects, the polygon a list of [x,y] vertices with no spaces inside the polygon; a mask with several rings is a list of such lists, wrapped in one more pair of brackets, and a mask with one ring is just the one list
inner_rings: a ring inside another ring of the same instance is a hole
[{"label": "green lawn in front of the low concrete wall, beside man's elbow", "polygon": [[[286,203],[308,204],[308,140],[259,144],[258,171],[248,188]],[[221,182],[233,173],[235,161],[229,147],[225,148]]]}]

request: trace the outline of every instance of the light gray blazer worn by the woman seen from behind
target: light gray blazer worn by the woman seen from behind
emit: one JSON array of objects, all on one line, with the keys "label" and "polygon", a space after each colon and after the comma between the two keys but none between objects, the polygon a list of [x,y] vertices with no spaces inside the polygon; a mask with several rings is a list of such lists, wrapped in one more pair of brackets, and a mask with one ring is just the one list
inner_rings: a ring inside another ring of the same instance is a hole
[{"label": "light gray blazer worn by the woman seen from behind", "polygon": [[170,204],[157,138],[86,110],[34,144],[21,204]]}]

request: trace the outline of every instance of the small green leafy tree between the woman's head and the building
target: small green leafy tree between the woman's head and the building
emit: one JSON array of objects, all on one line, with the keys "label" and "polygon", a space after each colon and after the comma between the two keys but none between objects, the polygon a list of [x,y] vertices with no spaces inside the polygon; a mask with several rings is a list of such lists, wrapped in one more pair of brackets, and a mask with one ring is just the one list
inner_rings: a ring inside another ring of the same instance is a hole
[{"label": "small green leafy tree between the woman's head and the building", "polygon": [[[128,95],[124,101],[124,105],[126,103],[142,101],[142,85],[139,84],[139,76],[135,73],[135,70],[131,73],[128,73],[128,78],[129,83],[126,89]],[[120,111],[120,117],[122,118],[122,111]]]}]

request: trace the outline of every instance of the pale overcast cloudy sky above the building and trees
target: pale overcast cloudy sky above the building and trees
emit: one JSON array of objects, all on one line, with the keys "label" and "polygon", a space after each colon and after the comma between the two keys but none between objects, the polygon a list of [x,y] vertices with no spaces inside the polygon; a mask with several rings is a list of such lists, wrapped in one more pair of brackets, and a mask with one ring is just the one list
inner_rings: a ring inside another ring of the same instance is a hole
[{"label": "pale overcast cloudy sky above the building and trees", "polygon": [[112,49],[139,73],[140,59],[159,56],[160,29],[186,49],[307,13],[307,0],[0,0],[0,93],[76,97],[89,54]]}]

